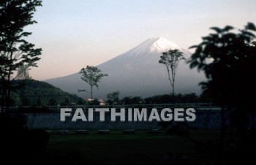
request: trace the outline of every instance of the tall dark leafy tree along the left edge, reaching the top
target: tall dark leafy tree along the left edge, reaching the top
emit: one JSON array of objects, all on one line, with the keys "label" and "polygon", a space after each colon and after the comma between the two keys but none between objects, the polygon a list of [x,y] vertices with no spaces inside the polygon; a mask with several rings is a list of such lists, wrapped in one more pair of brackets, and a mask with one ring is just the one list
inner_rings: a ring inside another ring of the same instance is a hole
[{"label": "tall dark leafy tree along the left edge, reaching the top", "polygon": [[37,66],[42,49],[34,48],[24,37],[31,35],[23,28],[37,23],[32,20],[39,0],[2,0],[0,2],[0,88],[2,110],[9,110],[12,74],[20,66]]}]

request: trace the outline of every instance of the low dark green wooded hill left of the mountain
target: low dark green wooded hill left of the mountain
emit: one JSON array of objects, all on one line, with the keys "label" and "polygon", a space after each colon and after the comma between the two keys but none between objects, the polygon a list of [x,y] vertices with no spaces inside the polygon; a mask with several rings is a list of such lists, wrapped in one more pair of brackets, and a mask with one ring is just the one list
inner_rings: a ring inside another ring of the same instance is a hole
[{"label": "low dark green wooded hill left of the mountain", "polygon": [[12,84],[18,86],[15,92],[11,93],[12,106],[26,105],[56,105],[78,102],[79,97],[56,88],[48,82],[38,80],[13,80]]}]

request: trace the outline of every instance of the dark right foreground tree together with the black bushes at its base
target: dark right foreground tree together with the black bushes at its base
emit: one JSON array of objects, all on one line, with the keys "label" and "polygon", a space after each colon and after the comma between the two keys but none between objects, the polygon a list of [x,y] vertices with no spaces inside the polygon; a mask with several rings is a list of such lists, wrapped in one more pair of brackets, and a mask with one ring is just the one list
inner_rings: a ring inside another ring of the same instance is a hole
[{"label": "dark right foreground tree together with the black bushes at its base", "polygon": [[[256,145],[252,140],[255,128],[248,127],[256,102],[256,26],[248,23],[237,34],[230,32],[232,26],[211,29],[214,34],[193,46],[189,64],[206,74],[208,80],[200,83],[202,96],[222,107],[222,129],[219,139],[194,142],[200,153],[211,158],[211,164],[249,164],[255,159]],[[231,110],[229,116],[225,110]],[[225,137],[227,118],[240,135],[236,139]]]}]

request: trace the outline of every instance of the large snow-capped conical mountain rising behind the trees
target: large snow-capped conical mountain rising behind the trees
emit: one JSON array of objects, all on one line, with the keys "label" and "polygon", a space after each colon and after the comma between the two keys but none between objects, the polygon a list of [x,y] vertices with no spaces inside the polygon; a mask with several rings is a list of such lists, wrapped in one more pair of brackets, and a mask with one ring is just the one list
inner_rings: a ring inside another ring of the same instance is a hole
[{"label": "large snow-capped conical mountain rising behind the trees", "polygon": [[[121,97],[146,97],[170,93],[167,69],[165,65],[159,64],[159,58],[162,52],[174,49],[183,52],[186,59],[191,55],[188,50],[159,37],[147,39],[126,53],[99,64],[97,67],[109,76],[103,77],[99,82],[99,90],[94,88],[94,98],[105,98],[106,94],[113,91],[119,91]],[[186,62],[187,60],[180,61],[178,64],[175,91],[200,94],[198,83],[205,80],[204,75],[196,69],[190,69]],[[78,93],[78,89],[89,90],[89,85],[80,77],[80,74],[75,73],[45,81],[63,91],[78,94],[85,99],[89,98],[88,93]]]}]

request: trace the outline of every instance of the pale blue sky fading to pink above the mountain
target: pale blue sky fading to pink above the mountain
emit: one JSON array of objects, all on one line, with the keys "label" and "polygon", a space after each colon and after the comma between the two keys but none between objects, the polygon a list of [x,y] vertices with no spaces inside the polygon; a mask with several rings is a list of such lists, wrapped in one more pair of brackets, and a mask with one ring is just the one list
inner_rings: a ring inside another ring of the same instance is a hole
[{"label": "pale blue sky fading to pink above the mountain", "polygon": [[[212,26],[256,23],[255,0],[43,0],[26,31],[42,47],[35,80],[98,65],[144,40],[163,37],[188,48]],[[192,50],[190,50],[192,51]]]}]

